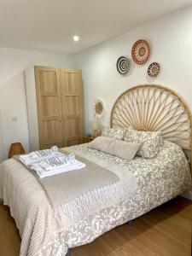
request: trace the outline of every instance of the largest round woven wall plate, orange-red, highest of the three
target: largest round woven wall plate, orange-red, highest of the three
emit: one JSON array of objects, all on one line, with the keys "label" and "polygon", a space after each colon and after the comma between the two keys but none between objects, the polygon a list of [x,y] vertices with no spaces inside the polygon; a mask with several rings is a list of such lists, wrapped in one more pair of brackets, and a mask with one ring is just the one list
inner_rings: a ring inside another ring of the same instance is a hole
[{"label": "largest round woven wall plate, orange-red, highest of the three", "polygon": [[137,40],[131,49],[131,55],[134,62],[139,65],[148,61],[150,55],[150,47],[147,41],[140,39]]}]

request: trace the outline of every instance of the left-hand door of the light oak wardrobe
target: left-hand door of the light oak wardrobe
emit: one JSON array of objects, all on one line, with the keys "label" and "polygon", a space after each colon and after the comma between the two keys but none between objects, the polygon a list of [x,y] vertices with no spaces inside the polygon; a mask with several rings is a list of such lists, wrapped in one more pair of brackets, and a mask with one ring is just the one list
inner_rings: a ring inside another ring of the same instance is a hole
[{"label": "left-hand door of the light oak wardrobe", "polygon": [[59,72],[54,67],[35,67],[38,104],[39,148],[62,146]]}]

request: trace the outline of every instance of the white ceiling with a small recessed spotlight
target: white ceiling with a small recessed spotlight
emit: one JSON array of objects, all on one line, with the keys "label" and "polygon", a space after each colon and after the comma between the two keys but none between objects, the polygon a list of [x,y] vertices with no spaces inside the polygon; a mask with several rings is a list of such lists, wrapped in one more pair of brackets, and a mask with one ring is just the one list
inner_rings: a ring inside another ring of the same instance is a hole
[{"label": "white ceiling with a small recessed spotlight", "polygon": [[[192,0],[0,0],[0,46],[76,53]],[[79,35],[78,43],[73,35]]]}]

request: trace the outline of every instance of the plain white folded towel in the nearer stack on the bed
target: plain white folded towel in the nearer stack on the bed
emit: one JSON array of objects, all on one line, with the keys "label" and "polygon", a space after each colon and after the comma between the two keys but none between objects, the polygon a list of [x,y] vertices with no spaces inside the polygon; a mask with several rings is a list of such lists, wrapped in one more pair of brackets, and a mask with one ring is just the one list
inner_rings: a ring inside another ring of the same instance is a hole
[{"label": "plain white folded towel in the nearer stack on the bed", "polygon": [[73,160],[73,164],[66,164],[66,166],[62,166],[60,168],[55,167],[52,170],[45,170],[40,163],[32,165],[32,170],[34,170],[37,174],[38,177],[43,178],[43,177],[49,177],[57,174],[61,174],[63,172],[70,172],[74,170],[79,170],[81,168],[84,168],[85,164],[80,162],[79,160]]}]

